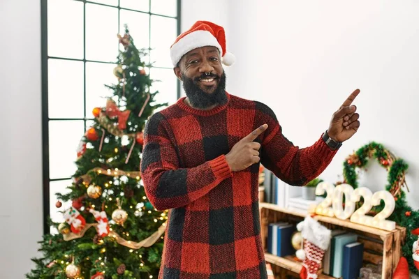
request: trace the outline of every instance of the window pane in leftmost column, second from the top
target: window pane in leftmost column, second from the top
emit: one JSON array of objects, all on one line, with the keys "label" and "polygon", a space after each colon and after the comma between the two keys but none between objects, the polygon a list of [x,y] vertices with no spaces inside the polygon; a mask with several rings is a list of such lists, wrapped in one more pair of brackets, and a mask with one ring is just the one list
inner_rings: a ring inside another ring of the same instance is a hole
[{"label": "window pane in leftmost column, second from the top", "polygon": [[83,118],[83,62],[48,59],[48,116]]}]

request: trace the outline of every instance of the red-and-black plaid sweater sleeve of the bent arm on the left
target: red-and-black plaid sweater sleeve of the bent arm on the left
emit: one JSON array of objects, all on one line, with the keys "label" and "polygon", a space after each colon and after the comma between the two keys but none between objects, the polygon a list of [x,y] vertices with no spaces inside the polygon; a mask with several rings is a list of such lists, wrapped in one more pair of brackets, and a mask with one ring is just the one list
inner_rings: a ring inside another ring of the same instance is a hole
[{"label": "red-and-black plaid sweater sleeve of the bent arm on the left", "polygon": [[159,112],[147,121],[140,166],[145,193],[159,211],[185,206],[233,176],[224,155],[196,167],[179,167],[168,129]]}]

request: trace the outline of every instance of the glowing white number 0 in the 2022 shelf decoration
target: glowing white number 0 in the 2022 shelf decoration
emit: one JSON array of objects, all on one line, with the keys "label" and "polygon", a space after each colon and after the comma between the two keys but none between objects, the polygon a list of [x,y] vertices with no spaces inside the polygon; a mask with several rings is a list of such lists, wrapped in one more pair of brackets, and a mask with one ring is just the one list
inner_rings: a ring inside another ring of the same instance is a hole
[{"label": "glowing white number 0 in the 2022 shelf decoration", "polygon": [[[349,184],[340,184],[336,186],[333,193],[333,211],[335,216],[341,220],[346,220],[351,217],[355,211],[355,203],[351,200],[353,188]],[[345,209],[343,208],[345,195]]]}]

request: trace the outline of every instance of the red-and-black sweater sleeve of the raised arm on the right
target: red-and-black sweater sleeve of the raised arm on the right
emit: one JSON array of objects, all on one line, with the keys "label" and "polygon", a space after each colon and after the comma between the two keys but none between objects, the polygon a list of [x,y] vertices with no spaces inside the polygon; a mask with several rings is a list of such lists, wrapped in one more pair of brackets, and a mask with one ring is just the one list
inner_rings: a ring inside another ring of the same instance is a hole
[{"label": "red-and-black sweater sleeve of the raised arm on the right", "polygon": [[261,140],[260,163],[279,179],[293,186],[304,186],[328,167],[337,151],[330,149],[322,137],[300,149],[282,134],[270,107],[257,102],[256,110],[259,121],[268,125]]}]

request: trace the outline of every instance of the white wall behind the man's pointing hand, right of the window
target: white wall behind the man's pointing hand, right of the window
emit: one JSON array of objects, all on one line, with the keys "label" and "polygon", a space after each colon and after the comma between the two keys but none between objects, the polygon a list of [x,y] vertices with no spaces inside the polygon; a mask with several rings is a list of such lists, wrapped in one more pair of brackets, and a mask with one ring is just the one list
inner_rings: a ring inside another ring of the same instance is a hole
[{"label": "white wall behind the man's pointing hand, right of the window", "polygon": [[[182,7],[183,30],[197,13],[224,24],[227,50],[236,56],[226,70],[228,91],[270,105],[284,135],[304,147],[320,137],[332,113],[359,88],[354,104],[360,130],[321,177],[341,181],[346,156],[375,141],[409,163],[407,200],[419,209],[419,3],[230,0],[228,5],[214,5],[215,13],[193,1]],[[375,162],[367,169],[360,185],[383,190],[385,169]]]}]

